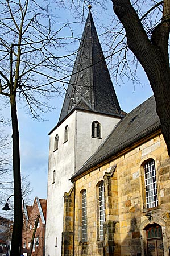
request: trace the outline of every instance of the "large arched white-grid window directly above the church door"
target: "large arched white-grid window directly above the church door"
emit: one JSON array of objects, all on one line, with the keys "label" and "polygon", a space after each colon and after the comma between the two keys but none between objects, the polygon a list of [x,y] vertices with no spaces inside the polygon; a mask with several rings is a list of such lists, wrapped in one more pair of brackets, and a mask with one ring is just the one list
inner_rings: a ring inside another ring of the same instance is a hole
[{"label": "large arched white-grid window directly above the church door", "polygon": [[158,196],[154,159],[150,159],[144,164],[144,184],[146,191],[146,208],[157,207]]}]

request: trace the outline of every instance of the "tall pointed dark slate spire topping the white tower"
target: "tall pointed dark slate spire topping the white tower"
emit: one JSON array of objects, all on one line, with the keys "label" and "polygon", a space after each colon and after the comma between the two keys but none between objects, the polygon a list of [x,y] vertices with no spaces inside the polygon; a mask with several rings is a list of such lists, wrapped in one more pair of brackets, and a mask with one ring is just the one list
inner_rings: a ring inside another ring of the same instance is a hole
[{"label": "tall pointed dark slate spire topping the white tower", "polygon": [[123,117],[90,7],[59,123],[74,108]]}]

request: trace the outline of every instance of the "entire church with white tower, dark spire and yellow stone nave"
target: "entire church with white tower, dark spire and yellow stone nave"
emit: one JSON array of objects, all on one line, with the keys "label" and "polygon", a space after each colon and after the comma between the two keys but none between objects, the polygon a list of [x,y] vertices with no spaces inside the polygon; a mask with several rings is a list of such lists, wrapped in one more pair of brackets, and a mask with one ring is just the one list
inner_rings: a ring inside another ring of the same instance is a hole
[{"label": "entire church with white tower, dark spire and yellow stone nave", "polygon": [[45,255],[169,255],[170,164],[155,99],[120,108],[90,7],[49,138]]}]

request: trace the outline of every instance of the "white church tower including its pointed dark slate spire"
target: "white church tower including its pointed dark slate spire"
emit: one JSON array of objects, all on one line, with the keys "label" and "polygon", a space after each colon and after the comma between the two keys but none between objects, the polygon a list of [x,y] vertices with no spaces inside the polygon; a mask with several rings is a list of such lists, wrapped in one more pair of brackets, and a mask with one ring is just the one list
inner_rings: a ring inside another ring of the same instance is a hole
[{"label": "white church tower including its pointed dark slate spire", "polygon": [[49,133],[45,255],[61,256],[63,196],[72,187],[69,179],[124,115],[89,7],[59,122]]}]

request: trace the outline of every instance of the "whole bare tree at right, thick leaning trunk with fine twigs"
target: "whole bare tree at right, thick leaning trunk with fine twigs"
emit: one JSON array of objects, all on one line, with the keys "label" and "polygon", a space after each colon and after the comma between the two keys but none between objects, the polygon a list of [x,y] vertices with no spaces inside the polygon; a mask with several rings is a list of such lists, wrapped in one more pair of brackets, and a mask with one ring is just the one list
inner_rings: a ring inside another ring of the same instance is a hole
[{"label": "whole bare tree at right, thick leaning trunk with fine twigs", "polygon": [[[139,82],[135,75],[140,63],[154,92],[157,115],[161,122],[161,131],[170,155],[170,69],[168,40],[170,31],[170,1],[156,0],[112,0],[114,13],[110,26],[101,26],[107,44],[114,80],[123,77]],[[63,6],[67,7],[65,1]],[[68,1],[72,13],[84,15],[88,3]],[[93,14],[100,16],[106,12],[107,1],[90,1]],[[96,11],[97,10],[97,11]],[[97,14],[98,15],[98,14]],[[101,18],[99,18],[101,19]],[[139,62],[138,62],[139,61]]]}]

